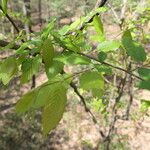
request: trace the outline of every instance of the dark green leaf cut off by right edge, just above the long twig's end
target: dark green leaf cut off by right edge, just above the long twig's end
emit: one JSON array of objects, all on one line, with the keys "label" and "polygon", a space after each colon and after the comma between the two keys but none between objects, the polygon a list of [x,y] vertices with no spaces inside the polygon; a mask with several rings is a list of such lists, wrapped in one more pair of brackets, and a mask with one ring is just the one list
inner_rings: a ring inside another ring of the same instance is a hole
[{"label": "dark green leaf cut off by right edge, just above the long twig's end", "polygon": [[145,80],[150,79],[150,69],[148,68],[139,68],[138,73],[140,77],[142,77]]}]

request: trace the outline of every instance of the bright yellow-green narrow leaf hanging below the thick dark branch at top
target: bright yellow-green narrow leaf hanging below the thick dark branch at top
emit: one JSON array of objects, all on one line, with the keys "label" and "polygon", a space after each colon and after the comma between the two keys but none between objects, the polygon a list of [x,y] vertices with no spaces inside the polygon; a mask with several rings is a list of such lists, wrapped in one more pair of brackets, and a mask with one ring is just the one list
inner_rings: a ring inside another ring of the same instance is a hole
[{"label": "bright yellow-green narrow leaf hanging below the thick dark branch at top", "polygon": [[101,21],[99,16],[96,15],[93,18],[93,25],[95,27],[97,34],[98,34],[99,41],[100,42],[104,41],[105,40],[104,28],[103,28],[103,24],[102,24],[102,21]]}]

